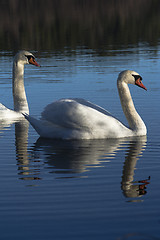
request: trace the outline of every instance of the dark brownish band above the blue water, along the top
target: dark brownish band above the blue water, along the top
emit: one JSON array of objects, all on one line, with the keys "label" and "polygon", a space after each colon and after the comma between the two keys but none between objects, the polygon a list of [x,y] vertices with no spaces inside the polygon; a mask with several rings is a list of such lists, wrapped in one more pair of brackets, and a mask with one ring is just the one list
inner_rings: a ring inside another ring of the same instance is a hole
[{"label": "dark brownish band above the blue water, along the top", "polygon": [[0,0],[0,50],[105,52],[159,38],[159,0]]}]

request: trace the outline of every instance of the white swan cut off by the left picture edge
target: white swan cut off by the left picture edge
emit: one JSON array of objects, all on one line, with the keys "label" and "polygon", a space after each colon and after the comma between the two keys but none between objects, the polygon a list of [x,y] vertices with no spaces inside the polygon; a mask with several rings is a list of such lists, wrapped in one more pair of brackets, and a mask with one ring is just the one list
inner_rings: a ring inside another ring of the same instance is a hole
[{"label": "white swan cut off by the left picture edge", "polygon": [[0,103],[0,119],[19,119],[24,118],[22,113],[29,113],[25,88],[24,88],[24,65],[33,64],[40,66],[36,61],[32,53],[28,51],[18,52],[13,61],[13,76],[12,76],[12,88],[13,88],[13,100],[14,110],[5,107]]}]

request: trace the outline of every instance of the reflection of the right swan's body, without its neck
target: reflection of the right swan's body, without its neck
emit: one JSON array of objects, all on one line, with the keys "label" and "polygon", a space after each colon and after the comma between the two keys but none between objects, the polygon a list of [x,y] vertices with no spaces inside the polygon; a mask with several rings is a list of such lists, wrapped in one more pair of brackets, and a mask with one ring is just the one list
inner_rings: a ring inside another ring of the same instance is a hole
[{"label": "reflection of the right swan's body, without its neck", "polygon": [[39,138],[34,153],[35,157],[42,155],[52,173],[84,173],[91,168],[102,167],[103,162],[114,157],[117,146],[118,140],[63,141]]}]

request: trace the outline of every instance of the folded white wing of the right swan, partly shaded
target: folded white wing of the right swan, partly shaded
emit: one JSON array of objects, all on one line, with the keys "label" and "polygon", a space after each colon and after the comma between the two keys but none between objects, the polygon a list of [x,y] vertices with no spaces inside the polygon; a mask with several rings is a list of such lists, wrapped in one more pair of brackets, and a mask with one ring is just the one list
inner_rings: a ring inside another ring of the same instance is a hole
[{"label": "folded white wing of the right swan, partly shaded", "polygon": [[[104,126],[113,116],[83,99],[61,99],[46,106],[42,120],[54,125],[72,129],[92,129]],[[113,118],[114,119],[114,118]]]}]

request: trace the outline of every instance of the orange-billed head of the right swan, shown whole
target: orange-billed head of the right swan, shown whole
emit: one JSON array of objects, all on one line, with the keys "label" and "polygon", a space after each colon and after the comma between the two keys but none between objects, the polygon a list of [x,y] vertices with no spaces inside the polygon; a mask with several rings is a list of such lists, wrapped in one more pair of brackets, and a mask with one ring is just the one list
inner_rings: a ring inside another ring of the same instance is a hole
[{"label": "orange-billed head of the right swan, shown whole", "polygon": [[131,71],[131,70],[122,71],[118,76],[118,82],[134,84],[134,85],[137,85],[138,87],[141,87],[147,90],[147,88],[142,83],[142,77],[139,75],[139,73],[135,71]]}]

